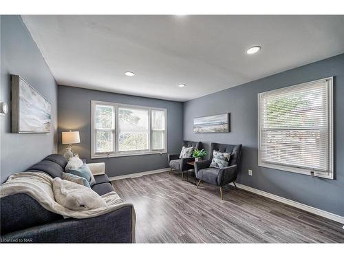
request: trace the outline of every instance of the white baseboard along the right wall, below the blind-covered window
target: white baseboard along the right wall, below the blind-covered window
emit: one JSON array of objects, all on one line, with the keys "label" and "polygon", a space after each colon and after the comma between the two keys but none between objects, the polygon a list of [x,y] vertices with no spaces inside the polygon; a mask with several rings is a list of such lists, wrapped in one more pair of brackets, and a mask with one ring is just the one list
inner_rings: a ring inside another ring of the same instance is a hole
[{"label": "white baseboard along the right wall, below the blind-covered window", "polygon": [[[282,202],[283,204],[288,204],[290,206],[294,206],[296,208],[299,208],[303,211],[308,211],[309,213],[314,213],[314,214],[319,215],[321,217],[326,217],[327,219],[332,219],[335,222],[339,222],[341,224],[344,224],[344,217],[336,215],[334,213],[329,213],[328,211],[323,211],[319,208],[314,208],[312,206],[301,204],[300,202],[295,202],[295,201],[286,199],[284,197],[274,195],[272,193],[264,192],[264,191],[261,191],[259,189],[252,188],[250,186],[246,186],[244,184],[239,184],[239,183],[235,183],[235,184],[237,184],[237,188],[239,188],[239,189],[243,189],[243,190],[246,190],[246,191],[249,191],[252,193],[256,193],[257,195],[262,195],[264,197],[268,197],[268,198],[275,200],[277,202]],[[344,229],[344,227],[343,227],[343,229]]]}]

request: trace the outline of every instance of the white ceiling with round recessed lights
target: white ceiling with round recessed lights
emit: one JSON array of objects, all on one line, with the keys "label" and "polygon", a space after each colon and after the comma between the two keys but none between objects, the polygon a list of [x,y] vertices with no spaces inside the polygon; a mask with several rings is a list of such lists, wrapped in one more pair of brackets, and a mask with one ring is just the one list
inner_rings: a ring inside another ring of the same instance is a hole
[{"label": "white ceiling with round recessed lights", "polygon": [[[344,52],[344,16],[22,18],[59,85],[167,100],[190,100]],[[252,45],[262,50],[246,54]]]}]

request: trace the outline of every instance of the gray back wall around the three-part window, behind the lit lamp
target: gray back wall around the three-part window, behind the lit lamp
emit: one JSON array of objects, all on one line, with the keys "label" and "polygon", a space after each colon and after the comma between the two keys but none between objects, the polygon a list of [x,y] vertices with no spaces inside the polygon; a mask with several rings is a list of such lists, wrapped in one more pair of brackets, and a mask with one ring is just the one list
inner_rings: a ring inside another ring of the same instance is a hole
[{"label": "gray back wall around the three-part window, behind the lit lamp", "polygon": [[167,154],[135,155],[116,158],[91,158],[91,100],[167,109],[167,152],[180,152],[183,136],[183,104],[169,100],[142,98],[91,89],[58,86],[58,152],[63,153],[61,132],[80,131],[80,144],[74,144],[80,158],[87,162],[105,162],[109,177],[168,167]]}]

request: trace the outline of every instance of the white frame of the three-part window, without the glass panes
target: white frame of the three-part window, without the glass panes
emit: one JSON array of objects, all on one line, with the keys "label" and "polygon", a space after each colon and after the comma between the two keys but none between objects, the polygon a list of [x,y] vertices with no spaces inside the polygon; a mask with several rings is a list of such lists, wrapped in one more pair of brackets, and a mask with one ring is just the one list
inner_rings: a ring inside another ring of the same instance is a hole
[{"label": "white frame of the three-part window, without the glass panes", "polygon": [[[95,125],[95,115],[96,115],[96,105],[107,105],[114,107],[115,113],[115,129],[114,137],[113,137],[113,144],[114,144],[114,151],[109,153],[96,153],[96,125]],[[118,151],[118,109],[120,108],[131,108],[131,109],[142,109],[148,111],[148,150],[142,151]],[[160,150],[152,150],[152,142],[151,142],[151,111],[152,110],[159,110],[164,111],[165,116],[165,129],[164,129],[164,149]],[[148,154],[162,154],[167,153],[167,109],[162,109],[159,107],[146,107],[146,106],[138,106],[138,105],[127,105],[127,104],[120,104],[120,103],[111,103],[105,101],[98,101],[98,100],[91,100],[91,158],[113,158],[113,157],[125,157],[125,156],[132,156],[132,155],[148,155]]]}]

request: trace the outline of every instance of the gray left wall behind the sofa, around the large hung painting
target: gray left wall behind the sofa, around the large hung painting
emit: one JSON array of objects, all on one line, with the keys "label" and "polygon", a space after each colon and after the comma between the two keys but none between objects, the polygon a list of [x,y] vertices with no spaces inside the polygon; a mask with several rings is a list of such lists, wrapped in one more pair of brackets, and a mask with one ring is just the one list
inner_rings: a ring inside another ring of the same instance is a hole
[{"label": "gray left wall behind the sofa, around the large hung painting", "polygon": [[57,85],[21,17],[1,16],[1,100],[10,104],[10,74],[18,74],[52,104],[47,134],[11,133],[10,112],[0,117],[1,182],[56,151]]}]

